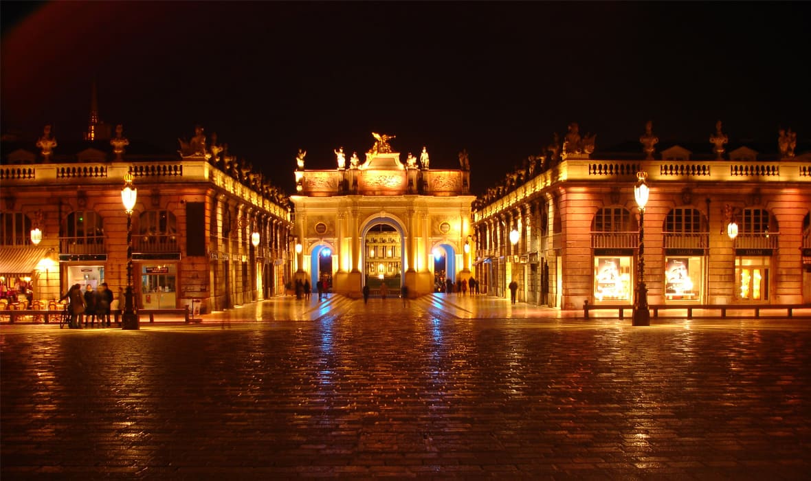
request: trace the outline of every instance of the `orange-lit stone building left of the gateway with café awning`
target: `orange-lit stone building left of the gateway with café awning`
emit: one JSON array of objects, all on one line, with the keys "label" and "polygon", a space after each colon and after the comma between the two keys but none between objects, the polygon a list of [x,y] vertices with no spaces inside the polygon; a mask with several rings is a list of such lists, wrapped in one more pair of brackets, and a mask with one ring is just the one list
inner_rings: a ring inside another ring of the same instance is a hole
[{"label": "orange-lit stone building left of the gateway with caf\u00e9 awning", "polygon": [[[79,283],[127,286],[126,174],[134,178],[131,259],[139,308],[221,310],[283,294],[292,258],[285,195],[198,128],[180,155],[105,135],[97,111],[85,140],[49,128],[35,142],[4,140],[0,276],[29,278],[32,300]],[[210,143],[209,143],[210,141]],[[30,231],[38,229],[34,245]],[[12,280],[13,279],[13,280]]]}]

